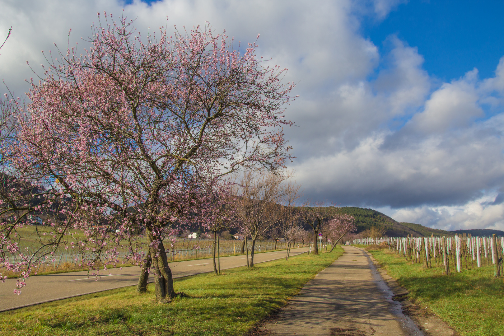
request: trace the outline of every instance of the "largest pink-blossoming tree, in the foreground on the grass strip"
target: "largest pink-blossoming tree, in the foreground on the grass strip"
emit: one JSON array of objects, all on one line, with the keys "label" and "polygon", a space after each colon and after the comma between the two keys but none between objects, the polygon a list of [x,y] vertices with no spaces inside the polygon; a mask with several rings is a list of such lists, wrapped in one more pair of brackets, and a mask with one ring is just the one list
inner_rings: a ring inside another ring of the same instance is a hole
[{"label": "largest pink-blossoming tree, in the foreground on the grass strip", "polygon": [[[10,235],[30,211],[59,199],[48,221],[51,247],[82,230],[77,245],[90,270],[127,251],[152,264],[159,301],[174,297],[165,238],[205,216],[207,186],[240,168],[274,171],[290,158],[285,70],[263,66],[256,44],[240,53],[231,42],[208,25],[142,38],[131,21],[110,17],[94,26],[84,54],[69,47],[47,57],[54,61],[32,82],[26,108],[13,101],[15,137],[2,146],[2,167],[52,198],[3,223],[3,251],[22,254]],[[0,259],[27,277],[33,263],[24,261]]]}]

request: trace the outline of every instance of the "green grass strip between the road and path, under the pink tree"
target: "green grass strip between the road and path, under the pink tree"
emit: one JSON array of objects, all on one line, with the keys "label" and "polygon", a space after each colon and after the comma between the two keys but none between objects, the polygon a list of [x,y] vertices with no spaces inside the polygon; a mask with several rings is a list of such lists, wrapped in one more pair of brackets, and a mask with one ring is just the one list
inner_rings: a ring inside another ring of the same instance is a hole
[{"label": "green grass strip between the road and path, under the pink tree", "polygon": [[[188,297],[169,304],[135,287],[0,313],[2,335],[243,335],[342,254],[298,255],[174,280]],[[23,295],[23,294],[21,294]]]}]

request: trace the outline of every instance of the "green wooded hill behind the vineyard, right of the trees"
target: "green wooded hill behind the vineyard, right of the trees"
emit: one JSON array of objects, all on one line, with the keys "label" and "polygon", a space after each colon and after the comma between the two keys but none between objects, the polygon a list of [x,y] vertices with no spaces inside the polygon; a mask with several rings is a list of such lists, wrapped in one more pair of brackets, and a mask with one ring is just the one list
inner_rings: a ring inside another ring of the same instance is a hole
[{"label": "green wooded hill behind the vineyard, right of the trees", "polygon": [[353,215],[357,232],[362,232],[369,229],[371,226],[377,226],[386,230],[386,235],[389,237],[406,237],[413,235],[414,237],[430,236],[433,234],[438,236],[453,236],[454,233],[444,230],[431,229],[420,224],[399,223],[389,216],[382,214],[373,209],[357,208],[357,207],[342,207],[338,208],[342,213]]}]

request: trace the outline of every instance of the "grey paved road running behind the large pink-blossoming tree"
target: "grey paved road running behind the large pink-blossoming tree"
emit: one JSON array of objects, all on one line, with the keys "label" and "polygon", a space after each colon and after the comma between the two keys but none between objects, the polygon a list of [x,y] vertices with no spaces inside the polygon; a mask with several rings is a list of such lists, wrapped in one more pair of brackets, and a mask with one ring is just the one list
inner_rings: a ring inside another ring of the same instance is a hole
[{"label": "grey paved road running behind the large pink-blossoming tree", "polygon": [[[293,248],[291,256],[306,252],[306,247]],[[250,257],[250,256],[249,256]],[[254,263],[260,263],[285,257],[285,251],[254,254]],[[234,255],[220,258],[221,271],[226,268],[246,266],[245,255]],[[216,260],[217,262],[217,260]],[[213,272],[212,258],[170,262],[173,278],[192,276]],[[110,273],[110,275],[109,275]],[[100,278],[87,276],[87,272],[60,273],[47,276],[33,276],[26,281],[21,295],[13,293],[16,280],[0,283],[0,311],[30,306],[33,304],[55,301],[73,296],[96,293],[109,289],[133,286],[138,283],[140,267],[109,268],[102,272]],[[154,278],[149,277],[149,282]]]}]

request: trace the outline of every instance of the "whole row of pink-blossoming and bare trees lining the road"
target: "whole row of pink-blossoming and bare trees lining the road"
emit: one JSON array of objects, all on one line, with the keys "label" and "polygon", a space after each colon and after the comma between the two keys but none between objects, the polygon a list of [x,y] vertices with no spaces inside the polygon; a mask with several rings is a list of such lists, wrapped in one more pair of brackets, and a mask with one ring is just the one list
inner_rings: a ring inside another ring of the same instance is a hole
[{"label": "whole row of pink-blossoming and bare trees lining the road", "polygon": [[[294,207],[299,185],[283,172],[293,84],[263,65],[255,43],[240,53],[209,25],[142,38],[125,18],[98,21],[83,54],[47,55],[26,105],[0,104],[0,265],[21,273],[16,293],[59,246],[77,248],[92,274],[127,250],[143,268],[137,290],[152,274],[157,300],[169,302],[167,252],[188,226],[214,237],[234,226],[252,239],[250,266],[258,238],[302,240],[302,221],[315,244],[318,232],[336,244],[352,229],[334,207]],[[27,253],[20,229],[32,214],[49,232]]]}]

